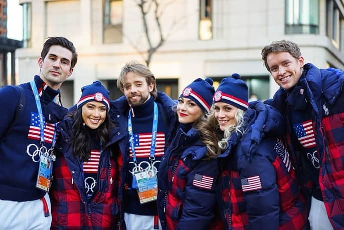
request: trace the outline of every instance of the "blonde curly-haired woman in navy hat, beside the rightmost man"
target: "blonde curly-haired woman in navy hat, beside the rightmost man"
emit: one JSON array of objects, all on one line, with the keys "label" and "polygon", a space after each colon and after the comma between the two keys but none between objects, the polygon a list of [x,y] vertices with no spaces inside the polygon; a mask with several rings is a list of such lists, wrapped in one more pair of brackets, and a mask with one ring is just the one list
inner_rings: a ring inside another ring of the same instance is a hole
[{"label": "blonde curly-haired woman in navy hat, beside the rightmost man", "polygon": [[218,194],[226,229],[305,229],[308,210],[286,142],[278,138],[282,117],[262,102],[254,106],[249,107],[247,85],[233,74],[221,81],[201,129],[222,151]]}]

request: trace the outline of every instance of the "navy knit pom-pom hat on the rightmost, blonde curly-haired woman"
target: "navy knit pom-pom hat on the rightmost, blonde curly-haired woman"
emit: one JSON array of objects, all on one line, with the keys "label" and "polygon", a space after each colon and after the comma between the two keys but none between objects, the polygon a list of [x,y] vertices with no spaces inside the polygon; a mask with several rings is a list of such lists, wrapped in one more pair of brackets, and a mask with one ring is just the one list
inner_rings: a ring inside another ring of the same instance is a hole
[{"label": "navy knit pom-pom hat on the rightmost, blonde curly-haired woman", "polygon": [[225,102],[239,109],[248,109],[248,89],[239,74],[232,74],[230,78],[222,79],[214,94],[214,103]]}]

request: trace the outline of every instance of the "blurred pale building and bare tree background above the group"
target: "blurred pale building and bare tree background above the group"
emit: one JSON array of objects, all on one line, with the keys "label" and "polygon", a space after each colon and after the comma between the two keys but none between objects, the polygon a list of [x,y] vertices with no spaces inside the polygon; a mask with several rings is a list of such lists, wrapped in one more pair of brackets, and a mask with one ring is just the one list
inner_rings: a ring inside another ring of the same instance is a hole
[{"label": "blurred pale building and bare tree background above the group", "polygon": [[121,67],[146,63],[157,88],[177,99],[194,79],[239,73],[249,95],[278,89],[260,51],[275,40],[299,44],[306,62],[344,67],[341,0],[0,0],[1,85],[39,74],[47,37],[63,36],[78,52],[74,73],[61,88],[64,106],[80,88],[100,80],[114,100]]}]

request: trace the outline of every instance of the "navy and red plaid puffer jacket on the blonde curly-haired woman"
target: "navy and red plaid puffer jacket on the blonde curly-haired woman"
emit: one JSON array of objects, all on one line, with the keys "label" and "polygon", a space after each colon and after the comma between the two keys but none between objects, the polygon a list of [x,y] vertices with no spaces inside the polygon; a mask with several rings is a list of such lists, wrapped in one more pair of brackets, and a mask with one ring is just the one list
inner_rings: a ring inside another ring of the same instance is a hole
[{"label": "navy and red plaid puffer jacket on the blonde curly-haired woman", "polygon": [[[256,111],[249,109],[244,119],[244,136],[233,132],[228,148],[219,156],[221,216],[225,216],[226,229],[307,227],[308,210],[284,142],[265,133],[252,145]],[[268,119],[277,128],[281,124],[281,119]]]}]

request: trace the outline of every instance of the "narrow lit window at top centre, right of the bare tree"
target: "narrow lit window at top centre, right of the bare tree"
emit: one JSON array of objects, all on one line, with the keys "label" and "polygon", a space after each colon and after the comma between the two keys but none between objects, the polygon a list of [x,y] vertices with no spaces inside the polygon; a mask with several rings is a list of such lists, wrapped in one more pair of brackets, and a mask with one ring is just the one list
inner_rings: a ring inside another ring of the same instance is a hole
[{"label": "narrow lit window at top centre, right of the bare tree", "polygon": [[200,0],[200,40],[213,38],[212,0]]}]

